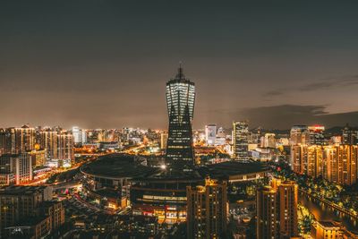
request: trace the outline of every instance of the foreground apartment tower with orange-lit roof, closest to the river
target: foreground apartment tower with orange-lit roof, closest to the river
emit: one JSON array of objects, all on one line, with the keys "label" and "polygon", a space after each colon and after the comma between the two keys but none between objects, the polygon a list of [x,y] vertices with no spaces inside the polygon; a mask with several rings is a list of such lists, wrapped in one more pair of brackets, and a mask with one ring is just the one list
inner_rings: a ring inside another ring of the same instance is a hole
[{"label": "foreground apartment tower with orange-lit roof, closest to the river", "polygon": [[298,185],[293,181],[272,179],[256,196],[257,238],[298,236]]}]

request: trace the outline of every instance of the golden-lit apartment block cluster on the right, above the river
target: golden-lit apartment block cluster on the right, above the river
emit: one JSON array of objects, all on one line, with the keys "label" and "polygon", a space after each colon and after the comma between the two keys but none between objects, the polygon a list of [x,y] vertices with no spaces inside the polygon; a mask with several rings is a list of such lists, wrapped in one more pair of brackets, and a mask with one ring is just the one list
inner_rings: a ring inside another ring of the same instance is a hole
[{"label": "golden-lit apartment block cluster on the right, above the river", "polygon": [[323,177],[336,184],[357,182],[358,146],[356,131],[345,127],[341,136],[325,140],[320,125],[291,129],[290,164],[297,174]]}]

